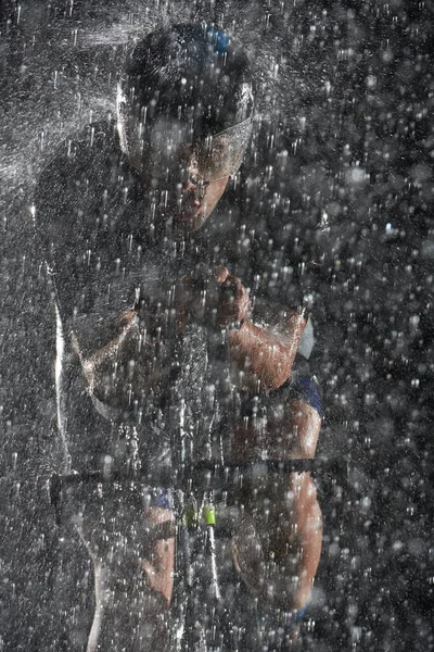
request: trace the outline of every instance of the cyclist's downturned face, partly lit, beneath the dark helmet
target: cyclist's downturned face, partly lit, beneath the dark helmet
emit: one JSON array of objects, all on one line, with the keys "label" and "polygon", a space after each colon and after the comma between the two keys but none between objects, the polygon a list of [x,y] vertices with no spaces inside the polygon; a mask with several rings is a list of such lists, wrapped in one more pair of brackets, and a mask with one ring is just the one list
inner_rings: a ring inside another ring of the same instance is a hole
[{"label": "cyclist's downturned face, partly lit, beneath the dark helmet", "polygon": [[210,215],[229,180],[225,148],[210,151],[209,142],[184,145],[178,124],[153,129],[144,161],[145,184],[154,193],[156,217],[182,235],[199,229]]}]

